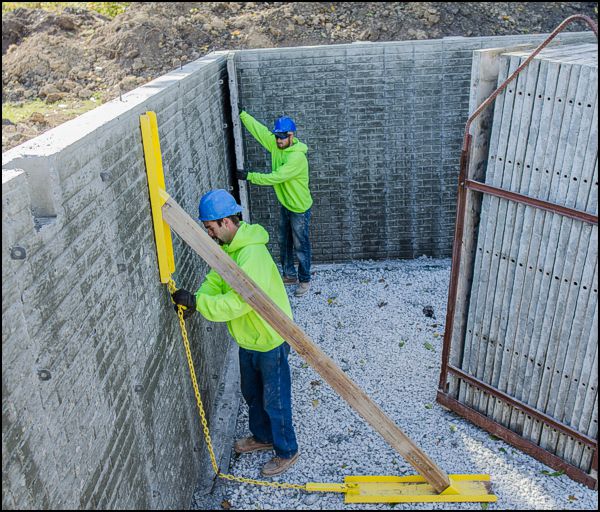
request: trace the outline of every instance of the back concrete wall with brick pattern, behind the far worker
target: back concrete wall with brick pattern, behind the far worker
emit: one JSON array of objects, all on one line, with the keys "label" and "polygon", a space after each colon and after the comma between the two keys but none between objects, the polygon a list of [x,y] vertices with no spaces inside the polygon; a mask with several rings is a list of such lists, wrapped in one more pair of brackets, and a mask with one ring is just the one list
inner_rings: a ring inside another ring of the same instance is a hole
[{"label": "back concrete wall with brick pattern, behind the far worker", "polygon": [[[561,40],[593,34],[561,34]],[[448,257],[473,50],[542,36],[247,50],[236,53],[241,108],[272,128],[292,117],[308,145],[313,259]],[[594,39],[595,40],[595,39]],[[244,131],[246,169],[270,157]],[[278,255],[272,187],[249,185],[253,222]]]}]

